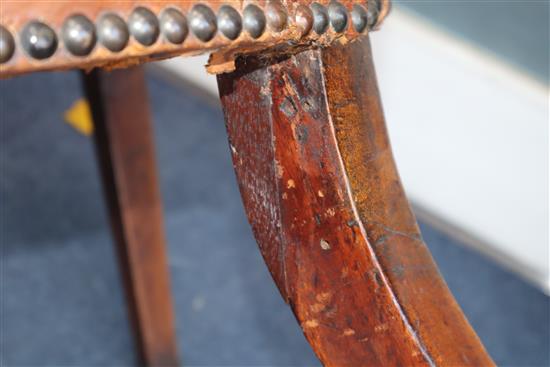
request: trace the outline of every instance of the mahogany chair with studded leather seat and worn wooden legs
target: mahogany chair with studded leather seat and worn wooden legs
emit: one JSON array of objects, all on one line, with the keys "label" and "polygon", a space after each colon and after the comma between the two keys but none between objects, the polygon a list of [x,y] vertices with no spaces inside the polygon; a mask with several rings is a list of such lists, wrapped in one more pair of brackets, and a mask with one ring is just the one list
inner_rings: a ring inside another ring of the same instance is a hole
[{"label": "mahogany chair with studded leather seat and worn wooden legs", "polygon": [[493,365],[422,241],[394,164],[368,38],[388,1],[0,5],[1,77],[83,70],[143,364],[179,358],[135,65],[211,52],[248,219],[321,362]]}]

